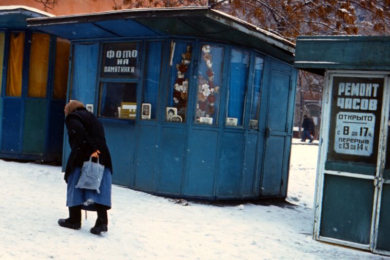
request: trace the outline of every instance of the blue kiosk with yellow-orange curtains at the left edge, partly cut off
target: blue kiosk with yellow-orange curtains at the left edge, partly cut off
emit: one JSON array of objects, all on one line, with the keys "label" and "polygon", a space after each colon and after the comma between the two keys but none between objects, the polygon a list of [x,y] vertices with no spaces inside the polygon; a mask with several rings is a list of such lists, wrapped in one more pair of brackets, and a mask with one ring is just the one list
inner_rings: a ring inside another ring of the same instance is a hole
[{"label": "blue kiosk with yellow-orange curtains at the left edge, partly cut off", "polygon": [[26,22],[51,16],[0,6],[0,158],[62,159],[70,42]]}]

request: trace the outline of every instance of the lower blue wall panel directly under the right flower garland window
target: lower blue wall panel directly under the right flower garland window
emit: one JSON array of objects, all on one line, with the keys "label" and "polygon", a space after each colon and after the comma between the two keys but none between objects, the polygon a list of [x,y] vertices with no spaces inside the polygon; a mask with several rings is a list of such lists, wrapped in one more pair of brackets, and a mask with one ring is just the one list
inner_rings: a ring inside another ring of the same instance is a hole
[{"label": "lower blue wall panel directly under the right flower garland window", "polygon": [[214,196],[217,143],[217,131],[192,131],[187,153],[189,164],[184,191],[186,195],[208,198]]}]

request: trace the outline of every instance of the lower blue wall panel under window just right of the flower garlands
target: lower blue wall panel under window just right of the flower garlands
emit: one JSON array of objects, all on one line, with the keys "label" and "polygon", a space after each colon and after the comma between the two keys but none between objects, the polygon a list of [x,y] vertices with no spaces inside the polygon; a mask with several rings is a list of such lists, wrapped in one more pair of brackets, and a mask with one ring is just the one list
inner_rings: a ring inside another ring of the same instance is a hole
[{"label": "lower blue wall panel under window just right of the flower garlands", "polygon": [[217,198],[238,198],[243,165],[244,133],[225,132],[221,139]]}]

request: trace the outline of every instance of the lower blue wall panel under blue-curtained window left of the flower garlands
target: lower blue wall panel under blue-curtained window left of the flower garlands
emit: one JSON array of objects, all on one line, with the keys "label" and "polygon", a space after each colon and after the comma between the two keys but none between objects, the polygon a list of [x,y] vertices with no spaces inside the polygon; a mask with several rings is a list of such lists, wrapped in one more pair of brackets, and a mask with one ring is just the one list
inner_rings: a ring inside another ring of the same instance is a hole
[{"label": "lower blue wall panel under blue-curtained window left of the flower garlands", "polygon": [[155,164],[157,145],[156,125],[139,125],[137,130],[137,150],[135,160],[134,187],[145,191],[153,191],[155,183]]}]

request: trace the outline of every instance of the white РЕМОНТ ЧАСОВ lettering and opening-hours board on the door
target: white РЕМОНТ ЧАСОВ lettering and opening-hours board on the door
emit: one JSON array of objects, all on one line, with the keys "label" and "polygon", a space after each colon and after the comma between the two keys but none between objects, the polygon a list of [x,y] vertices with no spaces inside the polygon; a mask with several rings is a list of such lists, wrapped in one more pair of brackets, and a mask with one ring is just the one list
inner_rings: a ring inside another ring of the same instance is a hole
[{"label": "white \u0420\u0415\u041c\u041e\u041d\u0422 \u0427\u0410\u0421\u041e\u0412 lettering and opening-hours board on the door", "polygon": [[334,77],[331,131],[337,154],[372,155],[382,93],[383,78]]}]

